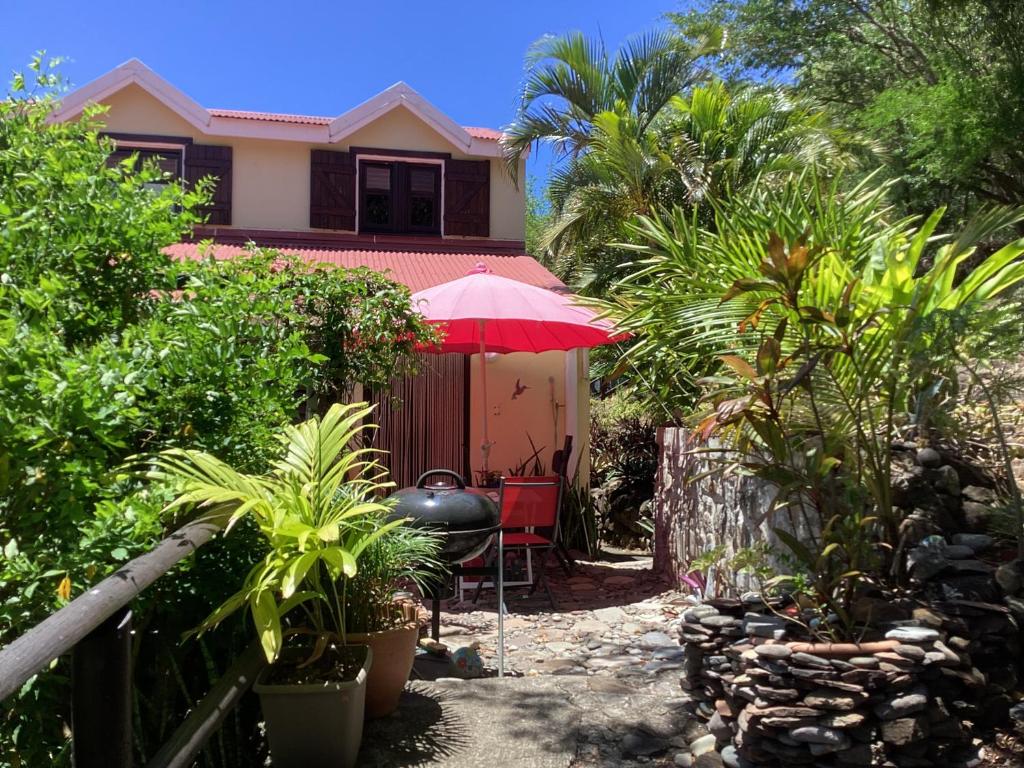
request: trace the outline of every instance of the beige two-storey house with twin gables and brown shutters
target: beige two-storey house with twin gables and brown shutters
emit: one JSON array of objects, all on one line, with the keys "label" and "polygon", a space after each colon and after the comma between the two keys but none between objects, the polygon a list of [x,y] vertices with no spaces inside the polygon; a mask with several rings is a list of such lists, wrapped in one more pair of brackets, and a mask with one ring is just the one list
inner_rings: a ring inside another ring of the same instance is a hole
[{"label": "beige two-storey house with twin gables and brown shutters", "polygon": [[[525,195],[501,158],[501,132],[459,125],[404,83],[337,117],[209,109],[136,59],[67,94],[55,120],[103,104],[118,153],[157,158],[187,182],[216,179],[195,242],[218,257],[254,242],[310,261],[369,266],[413,291],[478,263],[551,290],[564,286],[525,255]],[[524,161],[522,161],[524,162]],[[520,178],[524,167],[520,167]],[[589,406],[585,350],[487,355],[490,467],[507,470],[536,445],[550,466],[566,434],[586,481]],[[381,402],[381,444],[407,484],[422,469],[479,469],[478,359],[432,355]],[[395,403],[399,403],[397,407]],[[399,450],[400,449],[400,450]]]}]

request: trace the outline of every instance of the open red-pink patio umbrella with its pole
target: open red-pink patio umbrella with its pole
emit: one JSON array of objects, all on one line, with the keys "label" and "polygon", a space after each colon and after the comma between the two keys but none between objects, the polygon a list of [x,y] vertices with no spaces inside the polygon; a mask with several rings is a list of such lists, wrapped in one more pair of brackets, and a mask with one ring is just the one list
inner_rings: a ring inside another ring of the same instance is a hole
[{"label": "open red-pink patio umbrella with its pole", "polygon": [[487,438],[486,352],[547,352],[610,344],[627,338],[611,323],[578,306],[571,296],[492,274],[478,264],[465,278],[413,294],[413,304],[444,334],[432,352],[480,354],[483,392],[483,469]]}]

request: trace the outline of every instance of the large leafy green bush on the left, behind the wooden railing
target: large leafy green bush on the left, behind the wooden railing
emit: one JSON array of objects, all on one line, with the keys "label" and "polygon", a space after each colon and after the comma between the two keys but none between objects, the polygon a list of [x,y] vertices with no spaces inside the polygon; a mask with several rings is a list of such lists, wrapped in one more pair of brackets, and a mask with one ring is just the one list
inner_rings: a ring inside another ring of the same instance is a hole
[{"label": "large leafy green bush on the left, behind the wooden railing", "polygon": [[[0,644],[180,522],[164,492],[118,471],[126,457],[175,445],[260,470],[303,399],[326,407],[355,380],[386,380],[432,338],[381,275],[258,249],[170,259],[207,185],[110,166],[98,111],[47,122],[58,84],[34,62],[0,120]],[[141,757],[237,650],[228,633],[171,641],[263,554],[251,526],[231,540],[133,606],[139,637],[160,638],[138,649],[153,676],[136,697]],[[0,765],[67,758],[66,685],[61,662],[4,702]]]}]

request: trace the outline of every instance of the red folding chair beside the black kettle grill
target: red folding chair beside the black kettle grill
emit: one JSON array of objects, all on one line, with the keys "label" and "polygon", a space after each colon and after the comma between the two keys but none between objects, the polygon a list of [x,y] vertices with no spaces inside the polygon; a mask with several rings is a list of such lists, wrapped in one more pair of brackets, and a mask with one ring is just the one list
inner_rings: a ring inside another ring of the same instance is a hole
[{"label": "red folding chair beside the black kettle grill", "polygon": [[[558,510],[562,502],[562,478],[558,475],[542,477],[503,477],[499,490],[499,507],[502,514],[502,527],[498,534],[498,558],[505,562],[505,553],[509,550],[538,552],[537,581],[530,587],[530,594],[540,582],[555,606],[555,598],[551,594],[548,574],[544,561],[549,552],[554,552],[558,546]],[[550,531],[550,538],[544,536]],[[480,596],[482,583],[477,585],[473,602]]]}]

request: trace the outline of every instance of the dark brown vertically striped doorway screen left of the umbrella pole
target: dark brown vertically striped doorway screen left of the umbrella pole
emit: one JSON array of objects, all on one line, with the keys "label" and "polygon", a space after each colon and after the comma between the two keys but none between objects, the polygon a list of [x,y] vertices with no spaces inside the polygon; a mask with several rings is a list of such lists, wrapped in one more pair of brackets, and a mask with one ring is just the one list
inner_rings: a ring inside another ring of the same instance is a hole
[{"label": "dark brown vertically striped doorway screen left of the umbrella pole", "polygon": [[469,357],[425,354],[420,373],[393,379],[386,390],[369,393],[377,404],[380,429],[375,447],[398,487],[413,485],[428,469],[469,471]]}]

